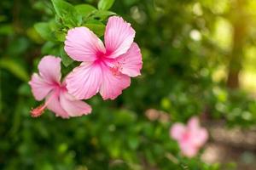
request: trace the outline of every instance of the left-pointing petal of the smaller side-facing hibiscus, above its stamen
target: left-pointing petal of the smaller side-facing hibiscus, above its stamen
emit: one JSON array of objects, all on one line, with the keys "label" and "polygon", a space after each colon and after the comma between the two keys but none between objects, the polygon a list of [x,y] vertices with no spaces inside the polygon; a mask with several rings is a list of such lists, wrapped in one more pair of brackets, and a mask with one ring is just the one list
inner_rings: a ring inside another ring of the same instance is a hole
[{"label": "left-pointing petal of the smaller side-facing hibiscus, above its stamen", "polygon": [[39,77],[37,73],[32,74],[32,80],[28,82],[32,88],[32,94],[37,100],[42,100],[46,97],[47,94],[54,88],[48,82],[45,82],[44,79]]}]

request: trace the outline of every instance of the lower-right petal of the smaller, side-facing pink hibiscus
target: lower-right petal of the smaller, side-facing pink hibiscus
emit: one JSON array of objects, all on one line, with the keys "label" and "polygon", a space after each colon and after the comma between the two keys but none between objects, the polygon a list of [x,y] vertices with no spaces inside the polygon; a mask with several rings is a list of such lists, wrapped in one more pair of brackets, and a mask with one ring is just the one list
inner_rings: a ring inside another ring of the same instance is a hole
[{"label": "lower-right petal of the smaller, side-facing pink hibiscus", "polygon": [[91,112],[90,105],[82,100],[74,99],[67,91],[61,92],[60,100],[62,108],[67,111],[69,116],[88,115]]}]

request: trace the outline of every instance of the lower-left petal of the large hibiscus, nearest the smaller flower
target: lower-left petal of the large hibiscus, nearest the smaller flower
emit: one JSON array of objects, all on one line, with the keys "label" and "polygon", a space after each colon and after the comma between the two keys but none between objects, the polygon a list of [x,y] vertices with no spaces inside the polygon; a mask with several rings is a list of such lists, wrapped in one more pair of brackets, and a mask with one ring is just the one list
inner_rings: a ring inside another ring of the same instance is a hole
[{"label": "lower-left petal of the large hibiscus, nearest the smaller flower", "polygon": [[90,99],[102,84],[102,68],[100,65],[83,62],[66,78],[67,90],[76,99]]}]

